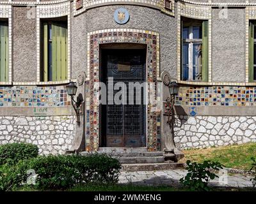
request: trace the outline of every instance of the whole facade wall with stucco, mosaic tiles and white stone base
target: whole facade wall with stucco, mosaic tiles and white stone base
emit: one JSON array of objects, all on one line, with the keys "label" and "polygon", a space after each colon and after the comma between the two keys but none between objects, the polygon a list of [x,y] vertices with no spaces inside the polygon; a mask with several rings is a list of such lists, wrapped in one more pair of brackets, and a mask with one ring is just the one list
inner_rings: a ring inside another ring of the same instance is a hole
[{"label": "whole facade wall with stucco, mosaic tiles and white stone base", "polygon": [[[117,24],[118,8],[129,21]],[[67,16],[68,78],[40,82],[40,20]],[[180,25],[188,17],[209,21],[208,82],[180,80]],[[9,80],[0,82],[0,143],[29,142],[41,154],[63,154],[77,136],[76,115],[65,85],[84,72],[84,150],[99,148],[99,45],[147,45],[147,80],[167,71],[175,97],[174,141],[179,149],[256,142],[256,83],[248,77],[249,20],[256,0],[56,0],[0,1],[8,19]],[[80,78],[81,80],[81,78]],[[159,90],[150,92],[165,100]],[[148,151],[163,150],[163,110],[147,107]],[[83,120],[83,119],[82,119]]]}]

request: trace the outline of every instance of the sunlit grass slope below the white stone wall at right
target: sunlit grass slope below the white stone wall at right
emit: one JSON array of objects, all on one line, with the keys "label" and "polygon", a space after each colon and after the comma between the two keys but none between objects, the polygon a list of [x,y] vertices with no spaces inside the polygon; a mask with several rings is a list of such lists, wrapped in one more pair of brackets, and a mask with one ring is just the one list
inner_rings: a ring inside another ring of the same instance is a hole
[{"label": "sunlit grass slope below the white stone wall at right", "polygon": [[191,149],[183,150],[183,152],[185,157],[180,162],[186,163],[187,160],[191,160],[202,163],[205,160],[211,160],[218,161],[227,168],[250,170],[252,164],[251,157],[256,157],[256,143]]}]

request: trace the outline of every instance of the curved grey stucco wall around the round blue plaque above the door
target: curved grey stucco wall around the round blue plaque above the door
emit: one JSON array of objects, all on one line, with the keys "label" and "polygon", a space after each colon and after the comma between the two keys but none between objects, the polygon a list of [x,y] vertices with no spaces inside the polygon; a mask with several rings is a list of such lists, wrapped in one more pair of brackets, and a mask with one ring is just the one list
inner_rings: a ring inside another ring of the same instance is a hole
[{"label": "curved grey stucco wall around the round blue plaque above the door", "polygon": [[[116,24],[113,14],[124,7],[130,13],[127,24]],[[93,20],[97,19],[97,20]],[[160,33],[160,69],[176,76],[177,25],[173,17],[159,10],[142,6],[102,6],[86,11],[72,20],[72,78],[78,71],[84,71],[86,64],[86,33],[100,29],[127,28],[143,29]]]}]

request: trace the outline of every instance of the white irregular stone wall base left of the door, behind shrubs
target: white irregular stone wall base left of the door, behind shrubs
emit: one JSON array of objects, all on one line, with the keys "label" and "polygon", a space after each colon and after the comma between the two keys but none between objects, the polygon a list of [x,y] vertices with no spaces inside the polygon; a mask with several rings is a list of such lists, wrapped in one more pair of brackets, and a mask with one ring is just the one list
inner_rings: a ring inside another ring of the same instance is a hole
[{"label": "white irregular stone wall base left of the door, behind shrubs", "polygon": [[38,145],[40,154],[63,154],[76,134],[74,116],[0,117],[0,144]]}]

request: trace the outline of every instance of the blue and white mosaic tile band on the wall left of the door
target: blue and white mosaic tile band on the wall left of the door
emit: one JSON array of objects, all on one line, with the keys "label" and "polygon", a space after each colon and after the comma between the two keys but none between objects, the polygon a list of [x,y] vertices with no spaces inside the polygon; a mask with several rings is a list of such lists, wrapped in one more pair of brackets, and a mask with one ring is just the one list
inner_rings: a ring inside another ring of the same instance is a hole
[{"label": "blue and white mosaic tile band on the wall left of the door", "polygon": [[68,106],[65,87],[0,87],[1,107]]}]

